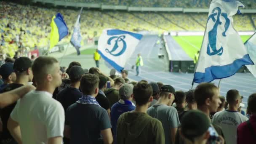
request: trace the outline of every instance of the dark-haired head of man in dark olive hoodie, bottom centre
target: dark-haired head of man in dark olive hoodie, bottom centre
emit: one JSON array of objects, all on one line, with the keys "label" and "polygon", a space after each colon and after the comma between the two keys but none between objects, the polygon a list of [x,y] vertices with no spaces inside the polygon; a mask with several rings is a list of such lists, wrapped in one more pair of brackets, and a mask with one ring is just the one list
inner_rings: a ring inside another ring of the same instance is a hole
[{"label": "dark-haired head of man in dark olive hoodie, bottom centre", "polygon": [[136,104],[139,106],[145,105],[152,99],[152,87],[148,83],[139,82],[133,88],[133,96]]}]

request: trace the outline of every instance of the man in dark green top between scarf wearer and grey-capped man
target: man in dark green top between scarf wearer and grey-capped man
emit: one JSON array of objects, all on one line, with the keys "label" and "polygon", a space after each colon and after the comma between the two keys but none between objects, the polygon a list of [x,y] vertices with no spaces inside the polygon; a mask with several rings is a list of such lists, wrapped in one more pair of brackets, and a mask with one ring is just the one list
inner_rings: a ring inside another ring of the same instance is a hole
[{"label": "man in dark green top between scarf wearer and grey-capped man", "polygon": [[125,84],[125,80],[122,77],[118,77],[115,79],[114,86],[104,91],[107,99],[109,100],[110,107],[119,101],[119,89],[123,84]]}]

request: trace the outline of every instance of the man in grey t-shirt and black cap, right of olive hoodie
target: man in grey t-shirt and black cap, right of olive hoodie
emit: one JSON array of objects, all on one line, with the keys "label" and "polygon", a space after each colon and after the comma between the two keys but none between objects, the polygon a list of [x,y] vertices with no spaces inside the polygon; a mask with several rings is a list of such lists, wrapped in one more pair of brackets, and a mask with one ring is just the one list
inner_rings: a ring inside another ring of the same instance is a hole
[{"label": "man in grey t-shirt and black cap, right of olive hoodie", "polygon": [[160,97],[157,103],[147,110],[147,114],[162,122],[165,132],[165,144],[174,144],[177,128],[180,124],[178,112],[171,104],[175,90],[171,85],[164,85],[161,88]]}]

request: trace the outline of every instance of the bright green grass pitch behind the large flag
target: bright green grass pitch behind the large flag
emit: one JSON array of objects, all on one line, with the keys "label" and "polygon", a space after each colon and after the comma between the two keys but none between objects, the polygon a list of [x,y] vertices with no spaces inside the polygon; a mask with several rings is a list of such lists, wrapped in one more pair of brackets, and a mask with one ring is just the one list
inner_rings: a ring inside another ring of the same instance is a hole
[{"label": "bright green grass pitch behind the large flag", "polygon": [[[248,38],[251,37],[250,35],[243,35],[241,36],[243,42],[248,40]],[[184,51],[192,58],[194,59],[195,53],[197,53],[198,50],[200,50],[203,36],[179,36],[179,37],[173,37],[174,40],[176,40],[177,43],[181,46],[181,48],[184,49]]]}]

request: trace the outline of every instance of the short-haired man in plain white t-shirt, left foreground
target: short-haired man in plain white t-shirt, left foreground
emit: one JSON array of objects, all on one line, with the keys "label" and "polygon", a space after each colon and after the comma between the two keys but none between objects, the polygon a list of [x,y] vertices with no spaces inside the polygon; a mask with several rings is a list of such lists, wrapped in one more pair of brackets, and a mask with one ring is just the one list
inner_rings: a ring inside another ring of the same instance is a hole
[{"label": "short-haired man in plain white t-shirt, left foreground", "polygon": [[8,120],[8,130],[18,143],[61,144],[64,109],[59,101],[52,99],[54,89],[61,84],[59,63],[53,57],[38,57],[32,71],[37,88],[17,101]]}]

